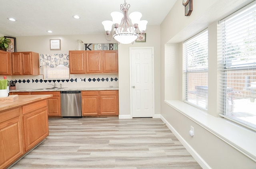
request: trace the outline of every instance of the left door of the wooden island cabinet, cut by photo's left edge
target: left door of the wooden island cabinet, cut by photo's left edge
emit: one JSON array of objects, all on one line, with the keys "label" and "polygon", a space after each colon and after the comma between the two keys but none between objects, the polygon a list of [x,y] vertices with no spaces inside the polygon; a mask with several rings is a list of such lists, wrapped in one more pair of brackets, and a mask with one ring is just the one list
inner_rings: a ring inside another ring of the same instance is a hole
[{"label": "left door of the wooden island cabinet, cut by photo's left edge", "polygon": [[[18,114],[20,114],[19,110],[17,112]],[[23,154],[20,116],[0,123],[0,145],[0,168],[2,169]]]}]

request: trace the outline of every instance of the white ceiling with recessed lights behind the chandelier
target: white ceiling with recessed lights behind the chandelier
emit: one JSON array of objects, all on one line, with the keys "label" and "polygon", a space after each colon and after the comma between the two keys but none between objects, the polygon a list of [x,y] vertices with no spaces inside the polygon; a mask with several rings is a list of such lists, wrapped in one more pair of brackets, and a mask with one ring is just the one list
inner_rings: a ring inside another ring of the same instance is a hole
[{"label": "white ceiling with recessed lights behind the chandelier", "polygon": [[[141,20],[148,20],[148,25],[160,25],[176,1],[126,0],[130,4],[128,14],[141,12]],[[0,34],[18,37],[104,34],[101,22],[112,20],[111,12],[121,12],[124,0],[0,0],[0,4]]]}]

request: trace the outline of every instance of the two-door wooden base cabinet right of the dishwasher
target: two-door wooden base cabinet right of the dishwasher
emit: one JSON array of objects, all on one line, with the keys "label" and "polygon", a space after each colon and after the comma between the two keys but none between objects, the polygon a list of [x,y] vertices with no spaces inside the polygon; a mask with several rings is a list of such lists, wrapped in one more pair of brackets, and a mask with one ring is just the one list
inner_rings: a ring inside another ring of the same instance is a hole
[{"label": "two-door wooden base cabinet right of the dishwasher", "polygon": [[118,90],[82,91],[82,116],[118,115]]}]

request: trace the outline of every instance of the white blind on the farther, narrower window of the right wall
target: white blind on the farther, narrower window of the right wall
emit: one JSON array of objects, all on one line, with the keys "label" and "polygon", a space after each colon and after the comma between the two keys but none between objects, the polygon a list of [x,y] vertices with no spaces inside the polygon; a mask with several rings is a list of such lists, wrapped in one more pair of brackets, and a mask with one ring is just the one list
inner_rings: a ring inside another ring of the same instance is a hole
[{"label": "white blind on the farther, narrower window of the right wall", "polygon": [[183,43],[186,102],[207,110],[208,30]]}]

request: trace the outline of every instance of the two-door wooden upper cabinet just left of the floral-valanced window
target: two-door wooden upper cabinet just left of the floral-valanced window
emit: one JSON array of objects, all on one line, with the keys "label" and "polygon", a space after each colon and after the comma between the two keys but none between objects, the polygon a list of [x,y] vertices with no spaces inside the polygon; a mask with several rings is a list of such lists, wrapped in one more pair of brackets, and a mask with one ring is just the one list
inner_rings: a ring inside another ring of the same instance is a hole
[{"label": "two-door wooden upper cabinet just left of the floral-valanced window", "polygon": [[39,54],[35,52],[13,52],[12,75],[39,75]]}]

